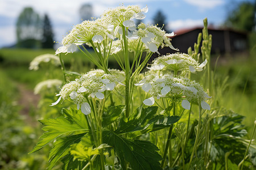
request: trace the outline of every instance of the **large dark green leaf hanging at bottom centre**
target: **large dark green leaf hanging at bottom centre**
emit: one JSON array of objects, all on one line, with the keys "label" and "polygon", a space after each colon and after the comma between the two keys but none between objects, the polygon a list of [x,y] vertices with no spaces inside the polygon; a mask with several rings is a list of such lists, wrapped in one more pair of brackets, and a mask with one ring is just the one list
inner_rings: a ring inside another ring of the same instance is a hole
[{"label": "large dark green leaf hanging at bottom centre", "polygon": [[159,163],[162,157],[156,152],[159,149],[151,142],[123,138],[113,131],[104,131],[102,137],[104,143],[113,146],[123,169],[126,162],[131,169],[162,169]]}]

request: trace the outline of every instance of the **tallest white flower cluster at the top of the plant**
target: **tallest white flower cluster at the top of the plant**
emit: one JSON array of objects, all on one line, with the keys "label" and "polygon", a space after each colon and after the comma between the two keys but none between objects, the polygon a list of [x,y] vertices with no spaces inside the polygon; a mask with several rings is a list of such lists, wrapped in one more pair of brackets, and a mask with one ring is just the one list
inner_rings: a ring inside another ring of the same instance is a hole
[{"label": "tallest white flower cluster at the top of the plant", "polygon": [[[159,46],[162,46],[162,48],[163,46],[170,46],[171,49],[175,49],[170,42],[170,37],[174,36],[173,32],[168,34],[161,28],[154,25],[145,25],[143,23],[139,24],[138,27],[135,25],[132,19],[144,19],[146,17],[144,13],[147,11],[147,7],[140,8],[139,6],[119,6],[117,8],[105,11],[101,15],[101,18],[92,21],[86,20],[81,24],[77,24],[68,33],[68,35],[64,37],[63,41],[61,42],[63,46],[56,50],[56,54],[73,53],[76,50],[76,45],[84,43],[92,46],[94,43],[101,43],[104,40],[106,40],[104,42],[107,42],[107,44],[109,41],[122,40],[122,36],[118,35],[122,35],[123,31],[125,31],[127,39],[134,40],[130,41],[129,44],[132,46],[129,50],[137,50],[134,48],[134,44],[136,44],[135,41],[138,41],[138,39],[141,40],[146,46],[143,46],[142,49],[147,49],[151,52],[159,53]],[[126,27],[126,29],[123,30],[123,27]],[[139,42],[141,43],[141,41]],[[112,43],[109,43],[108,45],[110,44]],[[105,48],[107,49],[108,47]],[[110,50],[113,54],[117,53],[121,49],[122,48],[120,45],[114,45],[114,47]]]}]

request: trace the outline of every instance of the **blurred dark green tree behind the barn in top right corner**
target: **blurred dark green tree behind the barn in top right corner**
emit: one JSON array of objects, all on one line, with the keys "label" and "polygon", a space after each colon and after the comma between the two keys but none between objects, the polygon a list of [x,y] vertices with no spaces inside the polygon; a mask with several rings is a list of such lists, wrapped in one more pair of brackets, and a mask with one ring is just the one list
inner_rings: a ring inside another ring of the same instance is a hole
[{"label": "blurred dark green tree behind the barn in top right corner", "polygon": [[255,28],[255,3],[240,3],[228,13],[225,25],[241,31],[252,31]]}]

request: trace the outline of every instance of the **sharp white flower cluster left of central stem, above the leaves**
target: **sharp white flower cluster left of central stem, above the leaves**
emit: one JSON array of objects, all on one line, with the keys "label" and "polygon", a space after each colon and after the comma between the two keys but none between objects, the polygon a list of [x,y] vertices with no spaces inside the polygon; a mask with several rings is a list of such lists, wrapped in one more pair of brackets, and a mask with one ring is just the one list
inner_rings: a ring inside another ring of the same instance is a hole
[{"label": "sharp white flower cluster left of central stem, above the leaves", "polygon": [[104,74],[104,71],[101,70],[89,71],[79,79],[65,84],[59,94],[56,95],[60,96],[59,99],[52,105],[58,104],[61,99],[71,99],[77,104],[77,110],[81,108],[82,113],[89,114],[90,105],[86,102],[86,98],[97,97],[98,99],[104,99],[105,96],[102,92],[114,90],[117,83],[118,80],[114,75]]}]

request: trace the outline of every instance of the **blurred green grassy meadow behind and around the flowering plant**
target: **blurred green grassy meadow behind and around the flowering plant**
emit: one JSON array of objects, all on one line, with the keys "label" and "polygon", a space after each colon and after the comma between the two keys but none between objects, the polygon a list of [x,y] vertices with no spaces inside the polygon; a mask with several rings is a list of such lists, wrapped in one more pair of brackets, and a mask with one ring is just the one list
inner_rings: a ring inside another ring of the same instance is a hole
[{"label": "blurred green grassy meadow behind and around the flowering plant", "polygon": [[[244,116],[234,117],[234,119],[237,118],[237,120],[242,121],[241,125],[236,125],[241,126],[240,128],[243,127],[248,131],[247,134],[245,131],[241,131],[241,133],[245,134],[243,139],[250,139],[250,136],[253,133],[256,111],[256,48],[253,37],[255,37],[255,35],[251,36],[248,52],[214,54],[212,56],[212,61],[210,62],[213,76],[212,86],[214,88],[213,91],[215,97],[214,105],[221,109],[222,107],[231,109],[234,113]],[[58,88],[52,88],[49,91],[44,89],[44,92],[41,95],[33,94],[34,87],[39,82],[53,78],[63,79],[63,71],[61,71],[60,66],[56,67],[43,63],[40,65],[39,70],[28,70],[32,59],[46,53],[55,54],[55,51],[51,49],[0,49],[0,169],[46,169],[48,166],[47,161],[50,160],[48,159],[49,150],[51,150],[51,147],[54,147],[52,143],[49,143],[49,145],[40,149],[40,151],[28,155],[28,152],[33,150],[38,142],[40,135],[43,134],[43,131],[41,130],[43,126],[36,120],[61,116],[61,108],[68,108],[68,106],[74,107],[75,105],[68,103],[68,101],[64,101],[61,105],[49,107],[49,105],[58,98],[55,96],[55,93],[59,92]],[[93,51],[90,53],[92,56],[96,55]],[[93,65],[88,58],[84,57],[84,54],[81,52],[70,53],[65,56],[63,55],[62,57],[65,69],[67,71],[74,71],[67,74],[67,79],[72,80],[76,78],[75,72],[86,73],[90,69],[96,69],[96,66]],[[119,68],[114,58],[109,58],[108,65],[110,68]],[[192,75],[192,79],[204,84],[204,76],[204,73],[198,73],[197,75]],[[140,93],[136,94],[135,92],[134,94],[134,98],[137,99],[138,94]],[[176,108],[178,111],[181,111],[181,107]],[[164,110],[164,112],[166,112],[166,110]],[[181,114],[183,114],[183,112]],[[105,118],[108,119],[108,117]],[[112,118],[113,117],[110,119]],[[195,119],[196,118],[194,117],[193,120]],[[181,120],[181,122],[182,121],[184,122],[184,120]],[[231,120],[229,123],[232,124]],[[226,126],[230,125],[228,124]],[[223,126],[222,128],[225,129],[226,126]],[[236,127],[233,127],[233,129],[236,129]],[[166,133],[166,131],[164,131],[164,133]],[[178,131],[176,131],[177,136],[178,134]],[[129,134],[126,135],[128,136]],[[177,136],[172,138],[179,138],[179,136]],[[256,135],[254,134],[254,139],[255,136]],[[142,135],[142,137],[146,138],[146,140],[148,139],[147,135]],[[126,138],[123,139],[126,140]],[[191,141],[193,140],[195,141],[195,138],[191,139]],[[158,144],[156,139],[153,139],[153,141],[156,145]],[[187,145],[186,142],[185,145]],[[188,145],[191,145],[191,147],[193,146],[191,143],[188,143]],[[76,151],[76,148],[74,148],[74,151]],[[163,148],[161,149],[161,152],[162,151]],[[227,152],[225,158],[227,158],[229,154],[231,154],[231,152]],[[179,155],[178,151],[177,155]],[[79,158],[79,155],[77,158]],[[177,159],[179,158],[180,155],[177,156]],[[54,158],[52,159],[54,160]],[[185,159],[187,160],[185,161]],[[96,161],[99,160],[96,159]],[[252,158],[252,160],[255,166],[255,157]],[[92,164],[93,161],[94,159],[90,163]],[[108,161],[110,162],[110,160]],[[65,162],[65,160],[63,160],[63,162]],[[183,163],[185,162],[188,164],[189,158],[183,158]],[[175,163],[180,163],[181,166],[181,162]],[[190,164],[191,162],[189,162],[189,165]],[[249,163],[246,162],[245,166],[247,164]],[[53,166],[53,164],[51,165]],[[61,165],[61,163],[57,162],[53,169],[60,169]],[[229,159],[225,160],[225,165],[229,166],[229,168],[236,167],[236,165],[230,163]],[[84,166],[86,167],[87,164]],[[185,165],[183,166],[185,167]],[[220,166],[220,164],[216,163],[213,168],[222,169],[223,167]]]}]

